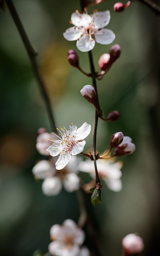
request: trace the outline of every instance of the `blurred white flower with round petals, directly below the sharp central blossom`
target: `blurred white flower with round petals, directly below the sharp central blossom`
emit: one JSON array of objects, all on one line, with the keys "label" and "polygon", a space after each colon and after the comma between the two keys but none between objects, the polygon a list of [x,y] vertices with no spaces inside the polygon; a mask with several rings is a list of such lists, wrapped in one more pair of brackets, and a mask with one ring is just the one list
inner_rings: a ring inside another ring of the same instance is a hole
[{"label": "blurred white flower with round petals, directly below the sharp central blossom", "polygon": [[32,169],[36,178],[44,180],[42,191],[46,196],[56,196],[62,189],[62,184],[67,192],[73,192],[80,187],[78,165],[81,158],[72,156],[65,169],[57,171],[51,160],[40,160]]}]

